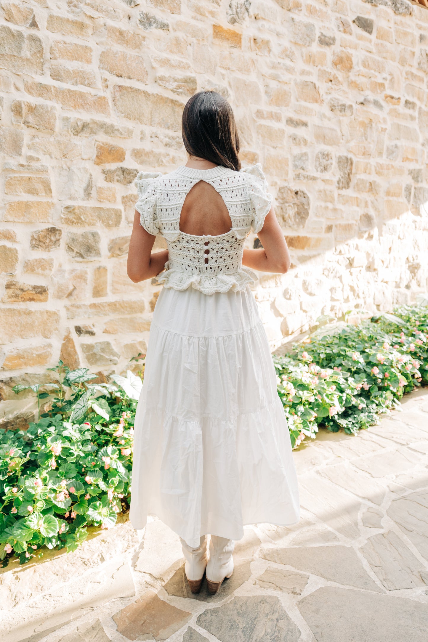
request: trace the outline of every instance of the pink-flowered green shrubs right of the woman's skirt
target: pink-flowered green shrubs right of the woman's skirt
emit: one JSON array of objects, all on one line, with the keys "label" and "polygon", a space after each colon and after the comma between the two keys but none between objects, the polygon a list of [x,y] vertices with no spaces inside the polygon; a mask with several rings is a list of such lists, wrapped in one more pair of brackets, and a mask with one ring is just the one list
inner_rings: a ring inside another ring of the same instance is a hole
[{"label": "pink-flowered green shrubs right of the woman's skirt", "polygon": [[427,334],[428,308],[402,306],[361,325],[321,330],[275,358],[293,447],[315,437],[318,426],[368,428],[428,383]]}]

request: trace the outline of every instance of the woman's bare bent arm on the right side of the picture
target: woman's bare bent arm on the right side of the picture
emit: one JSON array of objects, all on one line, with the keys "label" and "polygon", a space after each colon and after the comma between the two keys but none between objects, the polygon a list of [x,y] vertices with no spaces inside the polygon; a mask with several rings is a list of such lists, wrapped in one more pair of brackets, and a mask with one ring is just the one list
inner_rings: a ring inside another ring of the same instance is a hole
[{"label": "woman's bare bent arm on the right side of the picture", "polygon": [[259,250],[244,250],[243,265],[261,272],[288,272],[291,260],[286,239],[271,207],[259,234],[262,243]]}]

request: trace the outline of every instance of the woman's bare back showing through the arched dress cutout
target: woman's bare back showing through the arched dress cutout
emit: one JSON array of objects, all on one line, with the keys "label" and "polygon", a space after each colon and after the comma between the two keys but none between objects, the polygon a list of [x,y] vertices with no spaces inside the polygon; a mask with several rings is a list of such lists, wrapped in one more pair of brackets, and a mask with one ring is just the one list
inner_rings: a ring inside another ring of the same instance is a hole
[{"label": "woman's bare back showing through the arched dress cutout", "polygon": [[218,236],[232,229],[228,209],[218,191],[200,180],[185,196],[180,212],[180,231],[194,236]]}]

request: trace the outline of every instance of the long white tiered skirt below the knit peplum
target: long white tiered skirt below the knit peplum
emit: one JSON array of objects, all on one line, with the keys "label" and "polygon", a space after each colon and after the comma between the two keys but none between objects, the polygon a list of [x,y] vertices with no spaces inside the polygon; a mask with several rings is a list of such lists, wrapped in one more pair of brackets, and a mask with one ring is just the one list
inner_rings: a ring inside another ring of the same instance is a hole
[{"label": "long white tiered skirt below the knit peplum", "polygon": [[160,292],[135,415],[134,528],[148,515],[189,546],[298,521],[287,421],[249,287]]}]

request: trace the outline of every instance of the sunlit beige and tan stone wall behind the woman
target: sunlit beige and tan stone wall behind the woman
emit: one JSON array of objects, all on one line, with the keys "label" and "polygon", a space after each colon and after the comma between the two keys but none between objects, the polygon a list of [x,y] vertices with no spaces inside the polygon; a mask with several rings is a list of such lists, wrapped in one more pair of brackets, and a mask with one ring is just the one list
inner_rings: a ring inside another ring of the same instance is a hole
[{"label": "sunlit beige and tan stone wall behind the woman", "polygon": [[230,100],[291,248],[255,289],[273,347],[427,291],[428,11],[378,3],[1,2],[6,384],[144,352],[159,287],[126,277],[133,179],[185,163],[200,89]]}]

